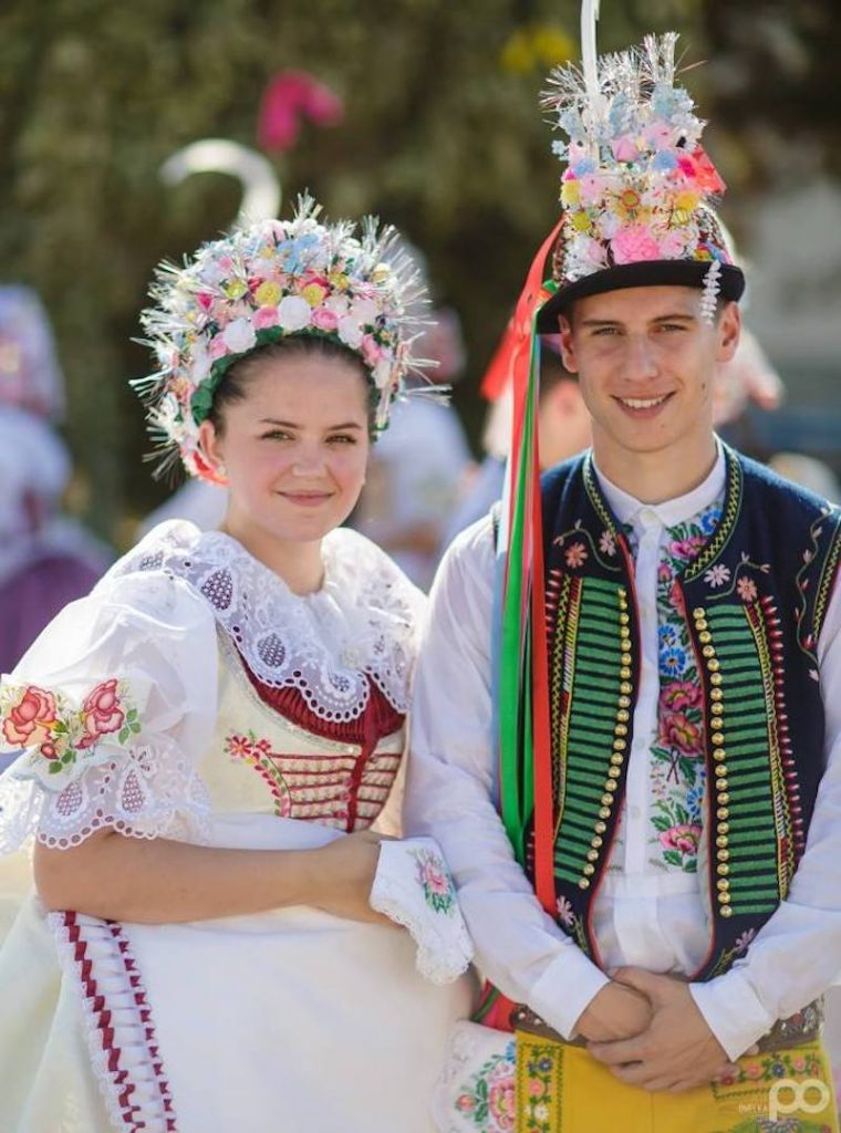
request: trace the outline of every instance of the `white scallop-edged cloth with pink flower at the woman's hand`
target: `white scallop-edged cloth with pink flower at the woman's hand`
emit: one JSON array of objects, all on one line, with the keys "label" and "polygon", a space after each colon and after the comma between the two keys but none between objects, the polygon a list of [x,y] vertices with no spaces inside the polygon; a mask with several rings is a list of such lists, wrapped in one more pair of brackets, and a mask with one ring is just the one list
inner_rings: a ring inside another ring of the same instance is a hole
[{"label": "white scallop-edged cloth with pink flower at the woman's hand", "polygon": [[[436,905],[431,903],[423,879],[430,868],[447,883],[447,892]],[[452,983],[467,971],[474,954],[473,942],[452,878],[433,838],[382,842],[368,903],[375,912],[384,913],[411,934],[417,945],[415,964],[424,979]]]}]

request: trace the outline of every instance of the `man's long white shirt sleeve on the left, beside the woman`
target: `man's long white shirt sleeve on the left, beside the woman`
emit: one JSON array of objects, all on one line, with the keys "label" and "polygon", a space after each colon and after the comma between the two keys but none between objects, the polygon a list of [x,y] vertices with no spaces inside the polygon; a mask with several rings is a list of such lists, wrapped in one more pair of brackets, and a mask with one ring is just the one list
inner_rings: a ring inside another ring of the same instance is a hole
[{"label": "man's long white shirt sleeve on the left, beside the woman", "polygon": [[442,847],[482,973],[570,1038],[608,978],[543,911],[494,806],[493,577],[487,518],[456,538],[432,588],[415,674],[406,833]]}]

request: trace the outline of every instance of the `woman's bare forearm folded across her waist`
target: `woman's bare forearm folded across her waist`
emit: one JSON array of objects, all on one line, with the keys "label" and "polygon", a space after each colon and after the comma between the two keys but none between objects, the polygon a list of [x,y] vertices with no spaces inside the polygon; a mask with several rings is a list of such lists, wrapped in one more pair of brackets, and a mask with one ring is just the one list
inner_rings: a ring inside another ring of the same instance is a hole
[{"label": "woman's bare forearm folded across her waist", "polygon": [[105,920],[173,923],[314,905],[391,923],[368,905],[381,835],[349,834],[316,850],[226,850],[99,830],[79,846],[35,847],[49,909]]}]

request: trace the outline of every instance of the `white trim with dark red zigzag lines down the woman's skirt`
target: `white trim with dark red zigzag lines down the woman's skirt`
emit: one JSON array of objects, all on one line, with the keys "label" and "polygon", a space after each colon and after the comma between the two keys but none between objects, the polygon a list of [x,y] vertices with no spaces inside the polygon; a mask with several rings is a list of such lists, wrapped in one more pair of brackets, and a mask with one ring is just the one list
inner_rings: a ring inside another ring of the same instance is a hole
[{"label": "white trim with dark red zigzag lines down the woman's skirt", "polygon": [[65,977],[77,989],[93,1072],[108,1116],[127,1133],[177,1133],[154,1022],[122,927],[50,913]]}]

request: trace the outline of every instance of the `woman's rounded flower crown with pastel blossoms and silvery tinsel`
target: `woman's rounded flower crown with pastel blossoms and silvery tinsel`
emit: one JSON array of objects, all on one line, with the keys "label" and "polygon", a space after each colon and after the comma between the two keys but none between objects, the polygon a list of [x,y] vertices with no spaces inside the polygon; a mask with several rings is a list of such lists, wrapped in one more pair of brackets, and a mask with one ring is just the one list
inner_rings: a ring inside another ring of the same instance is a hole
[{"label": "woman's rounded flower crown with pastel blossoms and silvery tinsel", "polygon": [[366,216],[357,238],[352,223],[322,223],[320,213],[304,196],[289,221],[260,221],[203,245],[182,267],[158,267],[141,323],[159,368],[133,384],[165,450],[159,474],[180,455],[190,475],[215,478],[198,426],[228,367],[257,347],[308,334],[354,350],[377,392],[377,429],[407,374],[430,365],[411,356],[424,288],[397,231]]}]

